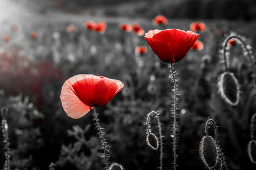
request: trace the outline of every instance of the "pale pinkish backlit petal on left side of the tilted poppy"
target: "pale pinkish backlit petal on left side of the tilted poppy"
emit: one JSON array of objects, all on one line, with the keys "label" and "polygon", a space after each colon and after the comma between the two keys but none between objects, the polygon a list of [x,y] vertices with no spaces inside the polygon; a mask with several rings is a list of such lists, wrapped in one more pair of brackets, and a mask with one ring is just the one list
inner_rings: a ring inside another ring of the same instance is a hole
[{"label": "pale pinkish backlit petal on left side of the tilted poppy", "polygon": [[72,83],[74,83],[74,77],[65,81],[60,95],[61,103],[68,117],[81,118],[93,107],[87,106],[76,96]]}]

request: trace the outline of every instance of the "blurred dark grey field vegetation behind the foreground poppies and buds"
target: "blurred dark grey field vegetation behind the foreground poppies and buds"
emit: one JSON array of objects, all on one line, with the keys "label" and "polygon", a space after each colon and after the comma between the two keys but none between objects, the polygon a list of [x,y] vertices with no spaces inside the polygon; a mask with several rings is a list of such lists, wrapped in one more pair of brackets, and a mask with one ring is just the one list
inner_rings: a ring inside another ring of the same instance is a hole
[{"label": "blurred dark grey field vegetation behind the foreground poppies and buds", "polygon": [[[97,108],[111,146],[111,162],[118,162],[128,170],[157,169],[159,154],[148,150],[143,123],[147,113],[160,110],[166,144],[163,169],[170,169],[169,68],[150,49],[143,56],[136,55],[135,47],[147,43],[143,37],[120,31],[121,22],[121,19],[107,20],[105,34],[86,31],[83,22],[77,21],[38,24],[23,27],[19,32],[10,29],[10,42],[1,42],[0,64],[4,63],[8,69],[0,67],[3,89],[0,107],[9,108],[12,169],[47,169],[51,162],[57,162],[56,169],[102,169],[99,155],[102,150],[93,127],[92,111],[73,120],[67,117],[60,103],[63,82],[81,73],[124,82],[125,88],[109,104]],[[159,28],[151,20],[138,22],[146,32]],[[191,22],[169,20],[166,28],[189,30]],[[67,32],[69,24],[76,25],[77,30]],[[205,25],[207,30],[198,38],[204,42],[204,50],[190,50],[177,63],[181,98],[178,169],[204,169],[198,145],[207,118],[218,122],[218,140],[228,167],[255,169],[247,155],[250,118],[256,111],[255,94],[250,89],[248,59],[239,45],[230,50],[230,68],[241,85],[241,101],[237,106],[228,106],[221,99],[217,79],[222,73],[219,50],[225,34],[235,31],[246,36],[255,52],[256,24],[212,20],[205,21]],[[36,39],[29,38],[31,31],[36,31]],[[4,159],[0,160],[3,167]]]}]

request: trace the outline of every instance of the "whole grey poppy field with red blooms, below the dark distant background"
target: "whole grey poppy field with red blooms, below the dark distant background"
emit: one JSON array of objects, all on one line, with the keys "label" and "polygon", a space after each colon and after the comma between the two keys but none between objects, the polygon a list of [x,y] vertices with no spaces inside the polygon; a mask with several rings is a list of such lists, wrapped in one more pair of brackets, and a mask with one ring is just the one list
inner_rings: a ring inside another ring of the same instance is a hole
[{"label": "whole grey poppy field with red blooms, below the dark distant background", "polygon": [[255,169],[255,22],[9,24],[0,169]]}]

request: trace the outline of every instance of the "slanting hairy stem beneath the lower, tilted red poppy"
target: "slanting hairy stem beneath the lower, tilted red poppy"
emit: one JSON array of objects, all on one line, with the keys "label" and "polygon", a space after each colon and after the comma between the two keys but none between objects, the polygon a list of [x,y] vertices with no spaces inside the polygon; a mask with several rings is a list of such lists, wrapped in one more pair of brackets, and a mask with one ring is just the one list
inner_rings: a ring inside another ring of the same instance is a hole
[{"label": "slanting hairy stem beneath the lower, tilted red poppy", "polygon": [[108,149],[108,143],[106,141],[106,138],[104,137],[104,128],[101,127],[100,125],[100,122],[99,122],[99,117],[96,113],[96,109],[95,107],[93,107],[93,120],[95,120],[95,125],[96,125],[96,129],[97,131],[99,132],[99,138],[100,138],[100,141],[102,143],[102,146],[103,146],[103,149],[104,149],[104,165],[105,165],[105,168],[107,169],[108,166],[109,166],[109,149]]}]

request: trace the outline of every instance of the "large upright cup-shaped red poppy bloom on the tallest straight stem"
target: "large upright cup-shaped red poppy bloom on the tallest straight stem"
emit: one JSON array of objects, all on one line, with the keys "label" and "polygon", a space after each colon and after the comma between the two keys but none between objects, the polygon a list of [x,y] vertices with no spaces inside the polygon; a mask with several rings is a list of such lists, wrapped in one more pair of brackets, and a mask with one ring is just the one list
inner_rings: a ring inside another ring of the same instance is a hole
[{"label": "large upright cup-shaped red poppy bloom on the tallest straight stem", "polygon": [[154,53],[163,62],[178,62],[183,59],[199,34],[180,29],[150,30],[145,39]]}]

